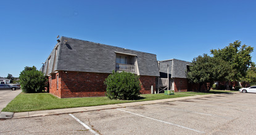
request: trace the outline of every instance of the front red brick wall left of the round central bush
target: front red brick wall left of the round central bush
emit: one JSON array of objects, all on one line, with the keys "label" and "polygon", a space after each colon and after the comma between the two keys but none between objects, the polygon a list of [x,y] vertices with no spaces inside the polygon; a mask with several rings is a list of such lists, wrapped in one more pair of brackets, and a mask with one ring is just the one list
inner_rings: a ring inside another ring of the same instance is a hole
[{"label": "front red brick wall left of the round central bush", "polygon": [[60,98],[105,96],[104,80],[109,74],[94,72],[59,72]]}]

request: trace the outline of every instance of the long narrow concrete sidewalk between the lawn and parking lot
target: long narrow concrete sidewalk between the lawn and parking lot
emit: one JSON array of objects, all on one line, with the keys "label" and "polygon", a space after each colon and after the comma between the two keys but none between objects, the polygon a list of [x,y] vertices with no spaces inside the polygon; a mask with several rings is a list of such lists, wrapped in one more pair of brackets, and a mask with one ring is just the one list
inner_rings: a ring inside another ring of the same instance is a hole
[{"label": "long narrow concrete sidewalk between the lawn and parking lot", "polygon": [[75,112],[88,112],[93,110],[116,109],[121,107],[141,106],[145,104],[156,104],[159,102],[204,98],[204,97],[217,96],[217,95],[226,95],[226,94],[196,95],[196,96],[186,96],[181,98],[160,99],[160,100],[153,100],[153,101],[109,104],[109,105],[103,105],[103,106],[76,107],[76,108],[54,109],[54,110],[38,110],[38,111],[32,111],[32,112],[16,112],[14,113],[14,116],[12,118],[28,118],[28,117],[39,117],[39,116],[56,115],[56,114],[69,114],[69,113],[75,113]]}]

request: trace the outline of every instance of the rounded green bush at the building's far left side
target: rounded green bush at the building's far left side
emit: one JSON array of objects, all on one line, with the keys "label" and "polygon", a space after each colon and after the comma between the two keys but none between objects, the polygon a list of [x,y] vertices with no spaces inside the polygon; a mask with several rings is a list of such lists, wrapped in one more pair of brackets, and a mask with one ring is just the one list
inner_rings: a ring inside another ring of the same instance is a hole
[{"label": "rounded green bush at the building's far left side", "polygon": [[22,72],[20,72],[20,85],[23,92],[35,93],[41,92],[46,87],[46,77],[43,73],[36,70],[36,67],[26,66]]}]

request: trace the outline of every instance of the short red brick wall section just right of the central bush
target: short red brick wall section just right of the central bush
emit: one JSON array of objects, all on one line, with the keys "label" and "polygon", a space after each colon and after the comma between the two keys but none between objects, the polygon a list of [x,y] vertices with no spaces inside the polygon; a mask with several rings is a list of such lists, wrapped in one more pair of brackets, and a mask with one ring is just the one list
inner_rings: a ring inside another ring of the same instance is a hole
[{"label": "short red brick wall section just right of the central bush", "polygon": [[155,90],[155,79],[156,77],[152,76],[139,76],[142,94],[151,94],[151,85],[153,85],[153,90]]}]

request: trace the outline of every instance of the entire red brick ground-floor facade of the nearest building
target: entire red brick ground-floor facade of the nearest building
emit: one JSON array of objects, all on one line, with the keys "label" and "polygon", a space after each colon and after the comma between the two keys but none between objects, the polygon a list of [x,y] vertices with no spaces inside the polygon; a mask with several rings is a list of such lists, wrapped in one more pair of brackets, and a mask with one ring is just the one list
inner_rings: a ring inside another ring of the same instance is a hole
[{"label": "entire red brick ground-floor facade of the nearest building", "polygon": [[[105,96],[104,81],[109,74],[94,72],[59,71],[49,76],[49,93],[59,98]],[[140,76],[141,93],[151,93],[155,77]],[[57,83],[58,82],[58,83]]]}]

